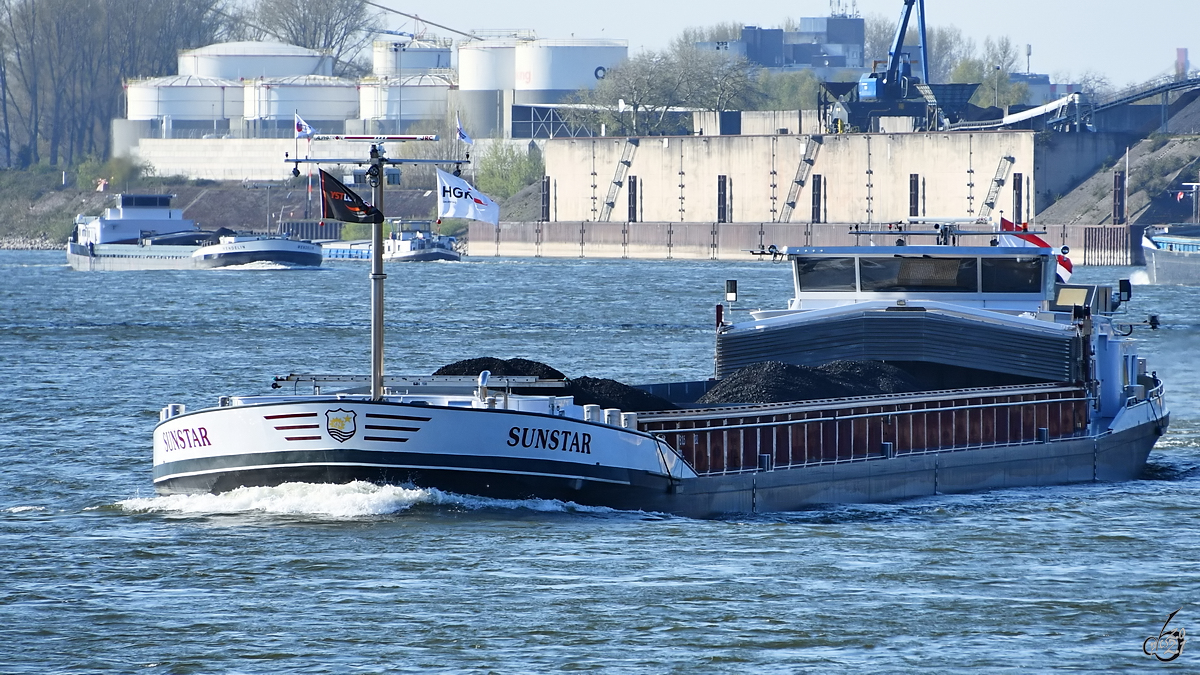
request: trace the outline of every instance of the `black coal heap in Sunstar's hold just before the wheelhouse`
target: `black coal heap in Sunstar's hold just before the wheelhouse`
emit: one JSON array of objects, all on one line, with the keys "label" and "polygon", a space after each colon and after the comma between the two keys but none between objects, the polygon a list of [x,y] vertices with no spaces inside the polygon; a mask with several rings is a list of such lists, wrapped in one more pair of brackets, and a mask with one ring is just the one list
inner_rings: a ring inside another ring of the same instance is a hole
[{"label": "black coal heap in Sunstar's hold just before the wheelhouse", "polygon": [[698,404],[782,404],[925,390],[920,381],[880,362],[836,360],[820,366],[763,362],[721,380]]}]

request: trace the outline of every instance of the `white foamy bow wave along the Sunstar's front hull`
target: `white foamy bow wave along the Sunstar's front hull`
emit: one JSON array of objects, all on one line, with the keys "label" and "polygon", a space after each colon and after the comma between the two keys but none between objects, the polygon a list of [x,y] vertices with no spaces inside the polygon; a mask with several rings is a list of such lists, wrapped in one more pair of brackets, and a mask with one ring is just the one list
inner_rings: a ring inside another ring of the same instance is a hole
[{"label": "white foamy bow wave along the Sunstar's front hull", "polygon": [[354,519],[389,515],[416,504],[458,507],[467,510],[528,509],[540,513],[607,513],[604,507],[584,507],[554,500],[494,500],[397,485],[355,482],[341,485],[286,483],[276,488],[238,488],[220,495],[163,495],[118,502],[137,513],[215,515],[262,513]]}]

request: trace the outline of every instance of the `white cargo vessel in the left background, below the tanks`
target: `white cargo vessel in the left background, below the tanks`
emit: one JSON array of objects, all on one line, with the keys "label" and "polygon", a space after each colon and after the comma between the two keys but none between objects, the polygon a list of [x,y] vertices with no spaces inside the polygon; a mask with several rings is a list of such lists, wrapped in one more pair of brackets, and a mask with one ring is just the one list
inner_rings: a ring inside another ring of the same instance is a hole
[{"label": "white cargo vessel in the left background, below the tanks", "polygon": [[98,216],[76,217],[67,241],[72,269],[209,269],[248,263],[319,267],[320,246],[288,235],[206,231],[170,208],[170,195],[115,195]]}]

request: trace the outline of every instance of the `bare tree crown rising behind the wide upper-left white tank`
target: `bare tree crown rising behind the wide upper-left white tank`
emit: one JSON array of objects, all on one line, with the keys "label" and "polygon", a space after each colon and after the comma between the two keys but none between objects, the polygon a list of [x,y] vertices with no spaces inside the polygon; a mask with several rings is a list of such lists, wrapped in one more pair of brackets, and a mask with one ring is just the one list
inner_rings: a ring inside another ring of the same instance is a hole
[{"label": "bare tree crown rising behind the wide upper-left white tank", "polygon": [[329,52],[335,74],[353,68],[354,58],[383,25],[366,0],[258,0],[253,18],[260,29],[284,42]]}]

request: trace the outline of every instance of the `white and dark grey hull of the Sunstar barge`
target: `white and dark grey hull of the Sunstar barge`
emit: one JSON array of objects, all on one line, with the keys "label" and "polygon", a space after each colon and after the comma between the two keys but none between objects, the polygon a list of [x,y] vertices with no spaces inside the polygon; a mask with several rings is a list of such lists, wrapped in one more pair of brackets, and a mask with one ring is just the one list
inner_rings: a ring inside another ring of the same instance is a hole
[{"label": "white and dark grey hull of the Sunstar barge", "polygon": [[[355,411],[360,424],[372,418],[420,419],[390,423],[386,426],[408,425],[400,428],[410,431],[383,432],[392,434],[389,440],[370,440],[364,430],[360,438],[342,443],[320,428],[324,412],[334,410]],[[1122,414],[1116,426],[1103,432],[1046,442],[815,461],[782,468],[768,462],[757,470],[697,476],[661,440],[604,424],[539,413],[348,404],[344,399],[286,402],[212,408],[167,419],[155,432],[155,485],[161,494],[175,494],[292,482],[366,480],[482,497],[562,500],[713,518],[1135,479],[1165,429],[1168,416],[1152,402]],[[312,429],[298,431],[306,426],[298,420]],[[557,430],[564,446],[575,435],[576,452],[551,449],[558,443],[545,441],[523,443],[530,437],[526,431],[522,438],[522,430],[529,429]],[[220,436],[222,432],[228,440]],[[284,440],[288,434],[292,440]],[[588,453],[578,452],[577,440],[583,434],[588,435]],[[448,436],[457,442],[448,442]],[[181,447],[192,442],[197,447]]]}]

